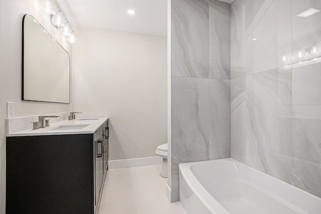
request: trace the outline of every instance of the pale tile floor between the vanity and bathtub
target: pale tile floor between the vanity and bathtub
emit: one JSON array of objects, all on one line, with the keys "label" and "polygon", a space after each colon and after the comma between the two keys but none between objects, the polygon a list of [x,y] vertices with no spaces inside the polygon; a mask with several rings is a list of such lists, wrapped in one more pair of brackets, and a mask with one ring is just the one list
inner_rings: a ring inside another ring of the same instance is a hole
[{"label": "pale tile floor between the vanity and bathtub", "polygon": [[161,165],[109,169],[99,214],[186,214],[180,201],[166,197]]}]

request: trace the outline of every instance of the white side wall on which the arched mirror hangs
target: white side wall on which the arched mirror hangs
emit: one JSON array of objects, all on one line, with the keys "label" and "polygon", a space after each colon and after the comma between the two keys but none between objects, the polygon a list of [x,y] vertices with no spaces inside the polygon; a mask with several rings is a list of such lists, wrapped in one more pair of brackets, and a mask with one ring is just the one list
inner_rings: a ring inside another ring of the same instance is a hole
[{"label": "white side wall on which the arched mirror hangs", "polygon": [[16,117],[69,111],[69,104],[21,100],[22,19],[31,14],[59,41],[71,56],[68,45],[40,10],[40,0],[0,1],[0,213],[6,204],[6,102],[16,103]]}]

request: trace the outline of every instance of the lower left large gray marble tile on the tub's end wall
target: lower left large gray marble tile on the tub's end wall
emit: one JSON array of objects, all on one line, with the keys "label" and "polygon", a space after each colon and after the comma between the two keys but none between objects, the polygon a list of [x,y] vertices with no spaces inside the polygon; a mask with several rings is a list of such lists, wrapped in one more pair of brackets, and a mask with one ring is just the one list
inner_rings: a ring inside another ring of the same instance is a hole
[{"label": "lower left large gray marble tile on the tub's end wall", "polygon": [[175,164],[209,159],[209,83],[172,77],[172,158]]}]

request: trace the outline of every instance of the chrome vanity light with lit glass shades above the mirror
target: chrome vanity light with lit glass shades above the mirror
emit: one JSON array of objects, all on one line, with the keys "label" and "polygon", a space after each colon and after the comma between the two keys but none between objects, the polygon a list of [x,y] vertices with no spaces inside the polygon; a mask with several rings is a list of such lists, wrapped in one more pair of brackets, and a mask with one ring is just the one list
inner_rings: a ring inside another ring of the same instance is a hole
[{"label": "chrome vanity light with lit glass shades above the mirror", "polygon": [[67,41],[74,44],[77,39],[72,29],[72,25],[66,14],[61,10],[61,6],[55,0],[42,0],[42,11],[49,15],[51,24],[56,28],[60,28],[62,35],[67,37]]}]

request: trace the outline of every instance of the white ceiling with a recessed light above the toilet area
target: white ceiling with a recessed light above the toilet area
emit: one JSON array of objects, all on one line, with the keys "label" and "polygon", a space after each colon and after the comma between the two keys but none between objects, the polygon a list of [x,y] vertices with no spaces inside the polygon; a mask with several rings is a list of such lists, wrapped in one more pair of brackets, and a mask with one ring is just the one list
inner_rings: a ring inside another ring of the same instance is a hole
[{"label": "white ceiling with a recessed light above the toilet area", "polygon": [[[167,0],[58,0],[73,27],[167,36]],[[136,11],[129,15],[128,9]]]}]

